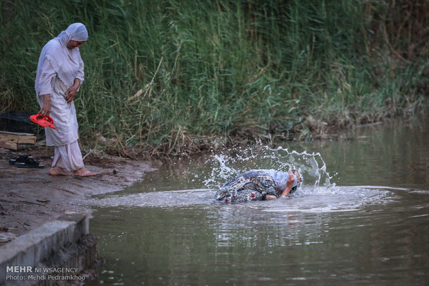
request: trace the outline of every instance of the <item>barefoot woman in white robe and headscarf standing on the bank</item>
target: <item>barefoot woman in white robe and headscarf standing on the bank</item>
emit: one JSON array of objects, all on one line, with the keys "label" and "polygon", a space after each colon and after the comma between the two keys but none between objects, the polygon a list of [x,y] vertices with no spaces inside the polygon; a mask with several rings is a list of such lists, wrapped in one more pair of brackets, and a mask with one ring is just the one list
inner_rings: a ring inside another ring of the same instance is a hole
[{"label": "barefoot woman in white robe and headscarf standing on the bank", "polygon": [[46,145],[55,146],[51,175],[86,177],[77,139],[77,118],[73,99],[84,80],[84,63],[79,48],[88,39],[84,24],[73,23],[58,37],[48,41],[37,64],[35,90],[39,113],[51,116],[56,129],[45,127]]}]

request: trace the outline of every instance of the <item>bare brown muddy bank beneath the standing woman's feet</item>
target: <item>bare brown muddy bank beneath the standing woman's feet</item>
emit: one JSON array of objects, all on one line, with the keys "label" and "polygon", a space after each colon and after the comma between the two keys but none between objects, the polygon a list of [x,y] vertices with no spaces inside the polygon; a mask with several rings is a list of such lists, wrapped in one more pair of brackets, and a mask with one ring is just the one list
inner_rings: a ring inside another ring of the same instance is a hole
[{"label": "bare brown muddy bank beneath the standing woman's feet", "polygon": [[[44,169],[23,169],[9,164],[9,159],[24,154],[39,160]],[[48,174],[52,156],[53,149],[48,148],[24,151],[0,148],[0,245],[68,211],[91,214],[86,198],[120,191],[143,180],[145,173],[156,170],[154,162],[89,155],[84,164],[97,175],[53,176]]]}]

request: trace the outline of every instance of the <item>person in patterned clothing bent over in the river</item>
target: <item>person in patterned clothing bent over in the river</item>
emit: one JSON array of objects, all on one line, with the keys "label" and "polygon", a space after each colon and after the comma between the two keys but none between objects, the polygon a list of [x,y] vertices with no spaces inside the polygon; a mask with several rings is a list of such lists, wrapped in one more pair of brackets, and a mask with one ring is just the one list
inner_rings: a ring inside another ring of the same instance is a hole
[{"label": "person in patterned clothing bent over in the river", "polygon": [[222,202],[248,202],[286,197],[296,191],[298,171],[251,170],[237,175],[220,187],[215,195]]}]

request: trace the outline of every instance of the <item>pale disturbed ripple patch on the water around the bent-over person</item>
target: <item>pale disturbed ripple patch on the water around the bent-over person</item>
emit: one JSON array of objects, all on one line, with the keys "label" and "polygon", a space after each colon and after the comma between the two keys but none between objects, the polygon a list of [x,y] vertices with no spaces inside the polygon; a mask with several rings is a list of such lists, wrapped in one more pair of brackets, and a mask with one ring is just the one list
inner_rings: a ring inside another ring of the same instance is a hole
[{"label": "pale disturbed ripple patch on the water around the bent-over person", "polygon": [[[97,197],[91,200],[91,204],[101,207],[223,207],[224,204],[217,202],[214,196],[215,190],[211,189],[156,191]],[[390,189],[377,187],[302,187],[289,198],[228,204],[228,207],[256,208],[267,212],[326,213],[356,211],[366,205],[387,204],[395,199],[396,195]]]}]

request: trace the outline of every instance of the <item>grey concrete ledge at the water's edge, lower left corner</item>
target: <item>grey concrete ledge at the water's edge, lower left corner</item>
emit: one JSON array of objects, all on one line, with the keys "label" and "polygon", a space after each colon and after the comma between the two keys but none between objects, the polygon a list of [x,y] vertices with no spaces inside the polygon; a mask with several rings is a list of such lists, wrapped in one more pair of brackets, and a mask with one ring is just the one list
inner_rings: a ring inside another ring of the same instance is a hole
[{"label": "grey concrete ledge at the water's edge, lower left corner", "polygon": [[[58,267],[73,268],[71,274],[77,275],[96,259],[97,240],[89,234],[89,218],[68,213],[0,247],[0,285],[51,285],[42,275],[66,275],[57,273]],[[41,273],[40,267],[51,269]]]}]

